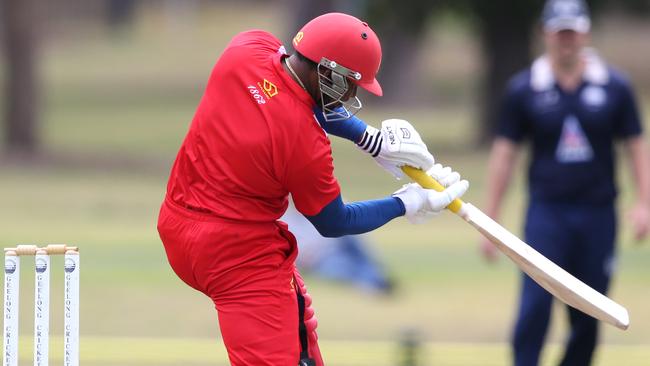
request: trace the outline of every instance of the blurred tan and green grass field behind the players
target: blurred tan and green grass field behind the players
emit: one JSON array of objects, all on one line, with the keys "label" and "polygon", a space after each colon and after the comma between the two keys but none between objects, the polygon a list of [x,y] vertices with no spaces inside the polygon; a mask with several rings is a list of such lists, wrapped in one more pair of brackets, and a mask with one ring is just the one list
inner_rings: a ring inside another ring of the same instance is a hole
[{"label": "blurred tan and green grass field behind the players", "polygon": [[[201,13],[196,29],[180,30],[169,30],[165,18],[153,12],[130,37],[114,38],[86,24],[77,25],[84,32],[66,41],[47,43],[42,134],[48,157],[0,163],[0,241],[81,247],[85,366],[227,364],[211,302],[174,276],[155,222],[167,170],[224,42],[239,24],[280,31],[277,11],[256,9],[269,16],[247,18],[251,11],[220,7]],[[644,110],[650,115],[647,103]],[[375,106],[362,117],[413,121],[438,160],[470,180],[467,201],[480,207],[486,152],[471,145],[473,113],[462,105]],[[349,200],[386,195],[401,184],[349,143],[334,141],[334,151]],[[501,220],[515,233],[524,204],[522,181],[519,174]],[[624,208],[632,199],[626,170],[620,181]],[[406,330],[420,335],[422,365],[508,363],[518,286],[512,263],[482,262],[478,234],[453,215],[415,227],[396,220],[370,237],[399,281],[396,296],[370,296],[307,276],[329,365],[399,364]],[[643,244],[632,242],[623,223],[611,295],[629,308],[632,325],[626,332],[603,326],[597,365],[646,365],[650,359],[650,247]],[[31,357],[26,336],[32,332],[31,276],[23,275],[25,362]],[[53,277],[52,333],[61,334],[56,323],[61,278]],[[544,365],[558,358],[564,318],[556,306]],[[61,357],[60,343],[52,341],[54,357]]]}]

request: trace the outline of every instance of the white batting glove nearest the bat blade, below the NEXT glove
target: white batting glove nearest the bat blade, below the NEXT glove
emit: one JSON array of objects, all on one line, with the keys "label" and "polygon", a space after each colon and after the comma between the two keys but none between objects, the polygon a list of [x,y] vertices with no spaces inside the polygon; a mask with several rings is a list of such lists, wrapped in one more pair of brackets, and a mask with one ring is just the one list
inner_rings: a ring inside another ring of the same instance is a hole
[{"label": "white batting glove nearest the bat blade, below the NEXT glove", "polygon": [[422,188],[417,183],[410,183],[393,193],[393,197],[399,198],[404,203],[405,216],[412,224],[422,224],[440,214],[469,188],[469,182],[461,180],[460,174],[449,167],[435,164],[427,174],[442,184],[445,190],[438,192]]}]

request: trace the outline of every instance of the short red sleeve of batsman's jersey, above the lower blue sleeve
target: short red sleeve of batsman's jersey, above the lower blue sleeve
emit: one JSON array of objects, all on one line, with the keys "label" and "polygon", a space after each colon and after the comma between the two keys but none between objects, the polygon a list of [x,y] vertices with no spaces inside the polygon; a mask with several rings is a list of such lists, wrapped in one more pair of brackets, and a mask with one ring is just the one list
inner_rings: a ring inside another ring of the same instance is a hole
[{"label": "short red sleeve of batsman's jersey, above the lower blue sleeve", "polygon": [[285,175],[296,208],[307,216],[318,214],[341,194],[334,177],[330,142],[320,127],[314,127],[309,131],[311,133],[301,135],[294,144]]}]

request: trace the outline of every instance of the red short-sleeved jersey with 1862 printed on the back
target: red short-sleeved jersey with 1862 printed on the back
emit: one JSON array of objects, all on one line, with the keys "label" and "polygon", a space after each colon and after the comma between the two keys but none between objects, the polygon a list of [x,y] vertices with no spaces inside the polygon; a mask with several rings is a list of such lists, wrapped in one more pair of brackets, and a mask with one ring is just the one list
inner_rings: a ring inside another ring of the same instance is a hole
[{"label": "red short-sleeved jersey with 1862 printed on the back", "polygon": [[241,221],[275,221],[291,193],[305,215],[340,194],[314,101],[282,67],[280,41],[235,36],[217,61],[167,186],[177,205]]}]

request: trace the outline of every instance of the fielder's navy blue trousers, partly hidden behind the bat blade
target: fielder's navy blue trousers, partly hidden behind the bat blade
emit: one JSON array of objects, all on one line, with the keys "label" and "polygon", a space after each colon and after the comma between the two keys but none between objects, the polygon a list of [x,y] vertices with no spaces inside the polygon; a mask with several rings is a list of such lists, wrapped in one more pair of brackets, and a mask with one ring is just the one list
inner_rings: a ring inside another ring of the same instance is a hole
[{"label": "fielder's navy blue trousers, partly hidden behind the bat blade", "polygon": [[[526,242],[551,261],[606,293],[616,240],[613,205],[575,206],[533,202],[526,217]],[[553,295],[527,275],[522,276],[517,322],[513,334],[514,364],[536,366],[551,316]],[[587,366],[598,338],[598,322],[569,306],[570,335],[560,365]]]}]

